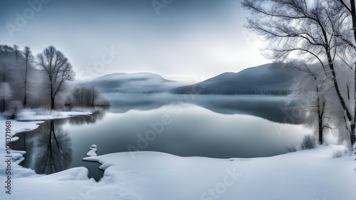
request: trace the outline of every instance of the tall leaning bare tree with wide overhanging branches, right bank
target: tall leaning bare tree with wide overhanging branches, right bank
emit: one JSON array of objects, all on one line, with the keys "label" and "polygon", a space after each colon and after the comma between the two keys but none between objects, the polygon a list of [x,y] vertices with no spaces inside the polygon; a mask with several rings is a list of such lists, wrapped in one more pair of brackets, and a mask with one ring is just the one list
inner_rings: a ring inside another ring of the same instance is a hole
[{"label": "tall leaning bare tree with wide overhanging branches, right bank", "polygon": [[[244,0],[242,6],[253,14],[246,27],[269,41],[268,58],[285,61],[300,56],[306,62],[320,64],[345,113],[345,124],[352,125],[350,103],[342,95],[334,64],[342,51],[337,30],[345,26],[345,8],[335,1],[304,0]],[[350,132],[350,143],[354,142],[354,133]]]}]

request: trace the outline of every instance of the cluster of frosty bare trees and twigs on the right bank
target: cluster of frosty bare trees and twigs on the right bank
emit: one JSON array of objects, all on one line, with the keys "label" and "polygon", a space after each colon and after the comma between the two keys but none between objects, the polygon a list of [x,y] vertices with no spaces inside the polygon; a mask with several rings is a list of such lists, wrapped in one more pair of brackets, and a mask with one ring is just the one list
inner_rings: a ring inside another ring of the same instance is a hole
[{"label": "cluster of frosty bare trees and twigs on the right bank", "polygon": [[290,97],[303,102],[302,117],[318,142],[333,132],[355,147],[355,0],[244,0],[242,6],[252,14],[246,27],[268,41],[266,57],[298,72]]}]

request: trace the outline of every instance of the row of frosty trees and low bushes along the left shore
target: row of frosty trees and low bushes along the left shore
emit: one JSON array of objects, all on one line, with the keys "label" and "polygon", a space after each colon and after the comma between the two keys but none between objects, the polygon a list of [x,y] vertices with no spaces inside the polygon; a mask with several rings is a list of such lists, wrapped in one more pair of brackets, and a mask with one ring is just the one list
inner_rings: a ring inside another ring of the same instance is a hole
[{"label": "row of frosty trees and low bushes along the left shore", "polygon": [[21,51],[16,45],[0,45],[0,112],[13,118],[23,107],[110,105],[96,88],[70,90],[74,78],[73,66],[54,46],[33,56],[28,46]]}]

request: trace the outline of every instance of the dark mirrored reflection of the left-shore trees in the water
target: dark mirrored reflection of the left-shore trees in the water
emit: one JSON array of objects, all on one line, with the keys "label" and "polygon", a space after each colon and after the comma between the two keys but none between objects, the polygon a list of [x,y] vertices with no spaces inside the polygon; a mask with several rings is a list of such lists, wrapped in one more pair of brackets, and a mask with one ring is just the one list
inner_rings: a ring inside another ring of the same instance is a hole
[{"label": "dark mirrored reflection of the left-shore trees in the water", "polygon": [[[73,146],[68,130],[63,125],[90,125],[102,120],[105,112],[93,115],[70,117],[64,120],[50,120],[41,123],[33,131],[19,133],[19,140],[12,143],[12,148],[26,151],[21,166],[35,170],[37,174],[53,174],[73,166]],[[81,157],[75,157],[80,159]]]}]

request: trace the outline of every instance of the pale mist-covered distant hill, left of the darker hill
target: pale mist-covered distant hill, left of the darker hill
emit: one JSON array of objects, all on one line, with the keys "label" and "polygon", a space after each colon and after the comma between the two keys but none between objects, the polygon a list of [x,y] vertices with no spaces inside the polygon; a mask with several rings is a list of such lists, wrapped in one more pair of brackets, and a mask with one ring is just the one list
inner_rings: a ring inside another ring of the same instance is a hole
[{"label": "pale mist-covered distant hill, left of the darker hill", "polygon": [[95,86],[103,93],[163,93],[187,83],[166,80],[155,73],[112,73],[80,86]]}]

